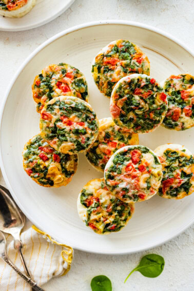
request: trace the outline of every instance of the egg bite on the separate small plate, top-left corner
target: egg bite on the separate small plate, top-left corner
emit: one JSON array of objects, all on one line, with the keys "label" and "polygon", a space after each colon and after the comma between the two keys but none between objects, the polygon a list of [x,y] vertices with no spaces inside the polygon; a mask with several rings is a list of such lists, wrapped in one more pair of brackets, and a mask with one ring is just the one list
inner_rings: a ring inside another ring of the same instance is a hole
[{"label": "egg bite on the separate small plate, top-left corner", "polygon": [[36,0],[0,0],[0,15],[22,17],[36,4]]}]

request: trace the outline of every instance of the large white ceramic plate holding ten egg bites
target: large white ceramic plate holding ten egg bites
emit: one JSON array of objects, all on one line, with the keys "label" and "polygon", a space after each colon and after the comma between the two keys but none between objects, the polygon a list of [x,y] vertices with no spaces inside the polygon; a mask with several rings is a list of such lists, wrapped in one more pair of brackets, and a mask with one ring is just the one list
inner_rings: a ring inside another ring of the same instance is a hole
[{"label": "large white ceramic plate holding ten egg bites", "polygon": [[[193,221],[194,195],[180,201],[159,196],[135,204],[128,225],[116,234],[96,235],[80,220],[76,199],[91,179],[103,177],[79,156],[79,167],[66,187],[44,188],[34,183],[22,167],[23,146],[39,130],[39,115],[31,96],[34,76],[45,66],[67,62],[79,68],[88,82],[90,104],[98,118],[109,117],[110,100],[102,95],[91,75],[93,57],[106,44],[127,38],[142,47],[151,63],[151,76],[162,81],[170,74],[193,69],[193,56],[171,36],[143,24],[112,21],[68,29],[38,47],[17,72],[6,94],[1,124],[1,167],[17,204],[39,228],[74,248],[104,254],[124,254],[162,244],[180,234]],[[140,144],[156,148],[181,143],[193,150],[194,128],[183,132],[158,128],[139,135]]]}]

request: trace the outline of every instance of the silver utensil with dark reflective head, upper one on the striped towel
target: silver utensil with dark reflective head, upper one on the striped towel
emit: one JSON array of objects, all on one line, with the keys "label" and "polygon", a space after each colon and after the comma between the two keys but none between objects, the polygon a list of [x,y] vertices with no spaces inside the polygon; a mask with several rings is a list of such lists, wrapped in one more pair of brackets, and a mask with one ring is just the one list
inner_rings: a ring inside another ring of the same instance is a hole
[{"label": "silver utensil with dark reflective head, upper one on the striped towel", "polygon": [[9,190],[0,185],[0,230],[12,235],[14,248],[20,255],[24,270],[28,277],[32,278],[24,260],[23,243],[20,239],[20,233],[25,223],[26,217],[11,198]]}]

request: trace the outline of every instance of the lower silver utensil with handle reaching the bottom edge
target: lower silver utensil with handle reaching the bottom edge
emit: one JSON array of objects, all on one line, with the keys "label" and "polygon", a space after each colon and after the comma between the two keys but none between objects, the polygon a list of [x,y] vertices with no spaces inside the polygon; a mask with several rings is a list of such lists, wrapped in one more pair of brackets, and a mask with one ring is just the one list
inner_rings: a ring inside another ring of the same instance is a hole
[{"label": "lower silver utensil with handle reaching the bottom edge", "polygon": [[32,279],[28,276],[26,276],[24,273],[22,273],[9,259],[6,251],[6,239],[2,231],[0,231],[0,257],[8,264],[10,267],[16,271],[18,275],[20,275],[30,286],[32,287],[33,291],[44,291],[40,286],[37,286],[35,282],[32,281]]}]

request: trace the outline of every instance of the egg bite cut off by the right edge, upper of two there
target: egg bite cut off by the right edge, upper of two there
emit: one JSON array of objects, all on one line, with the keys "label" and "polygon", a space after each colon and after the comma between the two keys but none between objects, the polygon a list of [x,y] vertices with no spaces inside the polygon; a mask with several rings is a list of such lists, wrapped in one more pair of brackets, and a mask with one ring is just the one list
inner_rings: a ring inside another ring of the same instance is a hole
[{"label": "egg bite cut off by the right edge, upper of two there", "polygon": [[185,130],[194,126],[194,76],[171,75],[164,82],[168,95],[168,111],[162,126]]}]

